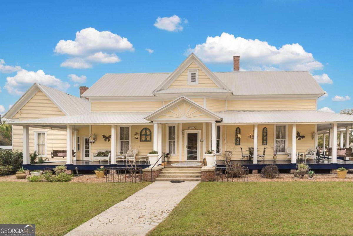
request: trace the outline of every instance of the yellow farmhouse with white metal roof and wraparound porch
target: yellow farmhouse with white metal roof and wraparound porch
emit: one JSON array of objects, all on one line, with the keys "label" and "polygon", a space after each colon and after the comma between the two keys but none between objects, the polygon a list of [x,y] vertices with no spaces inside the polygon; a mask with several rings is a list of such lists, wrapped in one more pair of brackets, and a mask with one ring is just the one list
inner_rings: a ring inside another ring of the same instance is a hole
[{"label": "yellow farmhouse with white metal roof and wraparound porch", "polygon": [[33,151],[67,165],[115,165],[129,150],[136,160],[169,153],[172,162],[202,162],[214,150],[216,165],[231,150],[232,160],[255,165],[273,160],[273,149],[277,161],[295,164],[330,130],[329,161],[337,163],[332,140],[337,129],[349,135],[353,116],[317,111],[325,92],[309,72],[239,71],[239,56],[233,60],[232,72],[212,72],[191,54],[172,73],[107,73],[80,87],[80,98],[36,83],[4,116],[13,149],[24,164]]}]

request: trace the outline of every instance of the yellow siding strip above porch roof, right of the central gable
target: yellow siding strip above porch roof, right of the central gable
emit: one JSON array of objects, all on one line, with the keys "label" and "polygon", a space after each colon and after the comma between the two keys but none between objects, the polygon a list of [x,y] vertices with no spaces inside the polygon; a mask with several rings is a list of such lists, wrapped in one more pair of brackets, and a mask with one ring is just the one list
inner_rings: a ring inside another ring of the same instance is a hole
[{"label": "yellow siding strip above porch roof, right of the central gable", "polygon": [[316,110],[315,99],[228,100],[227,111]]}]

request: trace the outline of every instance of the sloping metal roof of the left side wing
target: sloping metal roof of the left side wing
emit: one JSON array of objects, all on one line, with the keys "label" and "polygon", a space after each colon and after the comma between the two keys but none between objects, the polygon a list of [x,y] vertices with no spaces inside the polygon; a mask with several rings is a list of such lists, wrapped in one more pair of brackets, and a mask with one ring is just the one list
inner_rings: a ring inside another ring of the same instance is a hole
[{"label": "sloping metal roof of the left side wing", "polygon": [[90,112],[91,105],[90,102],[86,99],[72,96],[70,94],[61,92],[57,89],[50,88],[42,84],[37,83],[37,86],[43,91],[44,94],[47,94],[49,96],[49,99],[52,99],[54,103],[57,103],[70,116],[87,114]]}]

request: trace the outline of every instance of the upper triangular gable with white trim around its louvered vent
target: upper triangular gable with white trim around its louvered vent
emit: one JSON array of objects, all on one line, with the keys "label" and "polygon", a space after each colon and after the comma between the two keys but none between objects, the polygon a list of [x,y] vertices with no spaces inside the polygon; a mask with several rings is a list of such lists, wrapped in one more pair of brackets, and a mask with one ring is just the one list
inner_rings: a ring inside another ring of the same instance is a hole
[{"label": "upper triangular gable with white trim around its louvered vent", "polygon": [[[198,84],[189,85],[187,83],[187,73],[188,70],[198,71]],[[212,72],[208,67],[202,63],[200,59],[196,57],[195,54],[191,53],[183,63],[181,63],[177,69],[175,69],[159,86],[155,89],[158,92],[162,89],[170,88],[220,88],[229,89],[225,84]]]}]

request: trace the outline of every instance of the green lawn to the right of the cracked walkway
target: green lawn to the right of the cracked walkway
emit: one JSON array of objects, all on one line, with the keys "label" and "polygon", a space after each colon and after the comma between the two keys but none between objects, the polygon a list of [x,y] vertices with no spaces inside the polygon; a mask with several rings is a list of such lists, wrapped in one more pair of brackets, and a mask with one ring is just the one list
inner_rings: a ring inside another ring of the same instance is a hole
[{"label": "green lawn to the right of the cracked walkway", "polygon": [[353,183],[200,183],[148,236],[352,235]]}]

